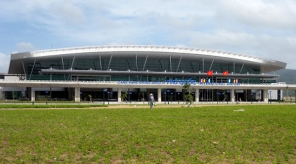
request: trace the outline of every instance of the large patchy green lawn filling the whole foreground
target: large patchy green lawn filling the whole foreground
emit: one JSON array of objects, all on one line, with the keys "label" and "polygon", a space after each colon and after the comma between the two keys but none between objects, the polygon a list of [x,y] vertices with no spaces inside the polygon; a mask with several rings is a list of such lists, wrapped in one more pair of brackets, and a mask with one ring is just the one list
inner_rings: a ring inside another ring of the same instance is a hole
[{"label": "large patchy green lawn filling the whole foreground", "polygon": [[296,105],[0,110],[0,163],[295,164]]}]

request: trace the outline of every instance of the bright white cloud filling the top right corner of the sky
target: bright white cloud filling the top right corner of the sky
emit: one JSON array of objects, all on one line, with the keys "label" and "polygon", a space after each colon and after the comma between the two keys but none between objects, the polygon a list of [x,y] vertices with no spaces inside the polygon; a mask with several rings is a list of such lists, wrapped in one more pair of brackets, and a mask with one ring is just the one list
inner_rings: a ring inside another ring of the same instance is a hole
[{"label": "bright white cloud filling the top right corner of the sky", "polygon": [[221,0],[219,17],[234,19],[252,28],[296,28],[296,2],[292,0]]}]

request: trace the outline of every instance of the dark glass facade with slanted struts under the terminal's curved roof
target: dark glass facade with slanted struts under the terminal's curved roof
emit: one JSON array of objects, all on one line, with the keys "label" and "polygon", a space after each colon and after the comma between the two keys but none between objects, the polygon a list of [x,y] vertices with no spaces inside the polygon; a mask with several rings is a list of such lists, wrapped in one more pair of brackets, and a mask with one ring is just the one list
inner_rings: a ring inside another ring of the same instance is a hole
[{"label": "dark glass facade with slanted struts under the terminal's curved roof", "polygon": [[[40,74],[41,69],[59,69],[59,70],[116,70],[116,71],[149,71],[149,72],[191,72],[191,73],[206,73],[208,70],[222,73],[239,74],[259,74],[259,66],[248,64],[235,64],[234,62],[220,62],[204,60],[202,58],[182,59],[172,56],[163,58],[152,58],[148,55],[91,55],[85,57],[59,57],[50,59],[37,59],[26,66],[27,79],[29,80],[89,80],[89,81],[165,81],[167,79],[184,79],[185,77],[154,77],[154,76],[79,76],[72,77],[71,75],[46,75]],[[196,81],[208,77],[190,77]],[[186,78],[185,78],[186,79]],[[189,79],[189,78],[187,78]],[[227,78],[211,77],[212,82],[227,82]],[[259,78],[239,79],[241,83],[261,83]]]}]

